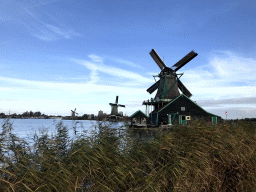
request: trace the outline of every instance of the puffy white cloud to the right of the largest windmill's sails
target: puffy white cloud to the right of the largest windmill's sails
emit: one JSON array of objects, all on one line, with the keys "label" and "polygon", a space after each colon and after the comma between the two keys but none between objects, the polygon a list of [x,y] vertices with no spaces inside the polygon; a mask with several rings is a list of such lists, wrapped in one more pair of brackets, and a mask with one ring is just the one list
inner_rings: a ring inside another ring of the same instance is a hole
[{"label": "puffy white cloud to the right of the largest windmill's sails", "polygon": [[[240,86],[256,86],[256,77],[253,75],[256,73],[256,60],[238,57],[228,51],[216,53],[210,57],[209,64],[184,71],[181,81],[191,88],[233,87],[238,93],[242,92],[238,90]],[[250,89],[243,89],[243,94],[250,92]],[[223,91],[216,93],[226,93]]]}]

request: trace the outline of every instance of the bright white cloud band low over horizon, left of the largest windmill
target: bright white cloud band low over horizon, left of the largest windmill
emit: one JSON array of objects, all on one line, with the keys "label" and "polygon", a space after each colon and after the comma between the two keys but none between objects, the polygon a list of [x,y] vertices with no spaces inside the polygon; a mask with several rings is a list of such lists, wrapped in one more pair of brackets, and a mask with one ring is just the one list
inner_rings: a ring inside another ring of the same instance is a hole
[{"label": "bright white cloud band low over horizon, left of the largest windmill", "polygon": [[[0,77],[2,82],[8,86],[0,88],[1,111],[11,110],[12,113],[39,110],[46,114],[70,115],[70,109],[77,108],[81,115],[97,114],[99,110],[110,111],[108,103],[113,102],[116,95],[119,95],[120,103],[125,105],[130,103],[130,99],[142,101],[147,97],[144,89],[93,83],[58,83]],[[12,94],[14,91],[15,95]],[[18,101],[5,101],[6,98],[16,99],[17,95]],[[122,109],[128,114],[135,110],[136,107]]]}]

